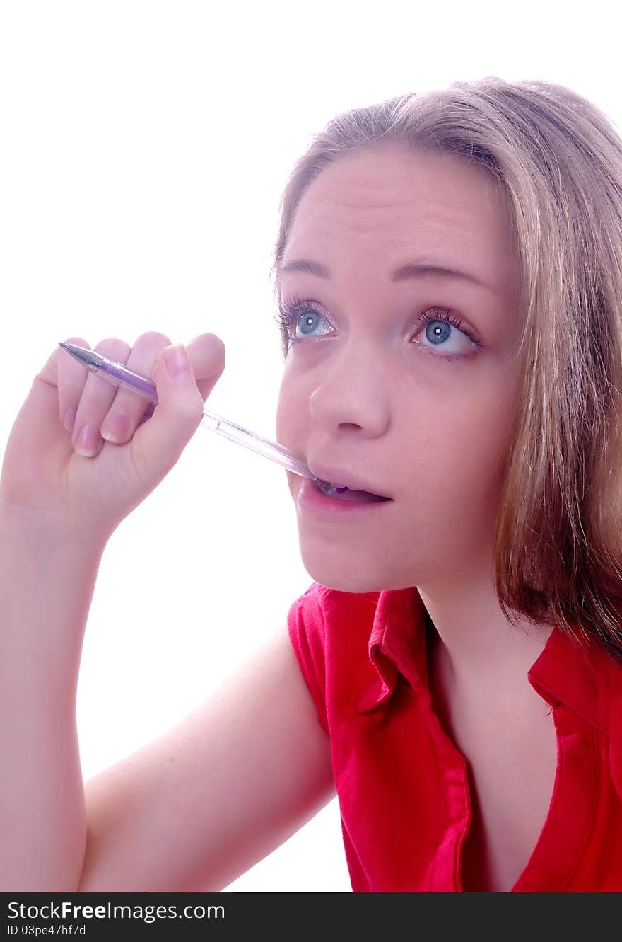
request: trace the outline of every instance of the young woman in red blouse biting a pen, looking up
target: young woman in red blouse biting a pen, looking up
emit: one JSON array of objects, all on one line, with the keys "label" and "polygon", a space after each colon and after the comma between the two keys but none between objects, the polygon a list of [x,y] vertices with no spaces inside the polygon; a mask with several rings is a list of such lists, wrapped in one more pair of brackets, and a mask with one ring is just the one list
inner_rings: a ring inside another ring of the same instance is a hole
[{"label": "young woman in red blouse biting a pen, looking up", "polygon": [[329,122],[273,269],[278,439],[326,482],[289,476],[310,589],[224,695],[86,786],[99,562],[224,346],[102,341],[156,382],[143,423],[51,354],[0,478],[3,889],[219,890],[337,794],[357,892],[622,890],[621,233],[622,140],[569,89]]}]

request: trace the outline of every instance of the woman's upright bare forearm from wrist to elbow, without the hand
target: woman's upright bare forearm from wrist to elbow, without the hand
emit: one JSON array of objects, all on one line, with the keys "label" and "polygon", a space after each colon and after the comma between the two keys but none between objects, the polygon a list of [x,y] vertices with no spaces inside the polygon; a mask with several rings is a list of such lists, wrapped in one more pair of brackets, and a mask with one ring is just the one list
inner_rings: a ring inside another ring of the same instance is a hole
[{"label": "woman's upright bare forearm from wrist to elbow, without the hand", "polygon": [[71,892],[87,837],[75,702],[103,544],[0,518],[0,891]]}]

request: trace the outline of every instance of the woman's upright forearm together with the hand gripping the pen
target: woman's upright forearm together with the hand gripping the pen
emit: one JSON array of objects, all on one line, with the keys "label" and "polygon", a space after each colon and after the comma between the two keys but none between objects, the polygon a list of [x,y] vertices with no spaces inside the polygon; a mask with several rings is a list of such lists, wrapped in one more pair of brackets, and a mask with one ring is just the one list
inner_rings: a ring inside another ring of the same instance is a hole
[{"label": "woman's upright forearm together with the hand gripping the pen", "polygon": [[[88,348],[81,337],[69,338]],[[88,609],[108,538],[177,463],[225,365],[213,333],[188,347],[162,333],[98,351],[151,376],[158,406],[101,382],[56,347],[33,379],[0,471],[0,890],[75,891],[87,847],[87,809],[75,699]],[[168,354],[186,369],[169,372]],[[174,375],[175,374],[175,375]],[[104,431],[125,415],[112,444]],[[74,421],[66,426],[66,416]]]}]

